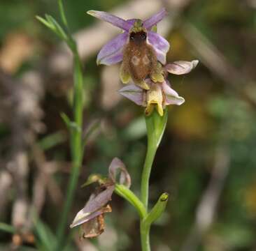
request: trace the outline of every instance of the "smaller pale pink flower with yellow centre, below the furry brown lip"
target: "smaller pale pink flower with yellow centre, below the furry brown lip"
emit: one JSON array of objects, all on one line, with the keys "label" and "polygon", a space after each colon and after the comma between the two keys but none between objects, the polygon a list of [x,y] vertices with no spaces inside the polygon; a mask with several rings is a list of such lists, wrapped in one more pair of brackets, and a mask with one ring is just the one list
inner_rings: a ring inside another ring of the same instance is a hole
[{"label": "smaller pale pink flower with yellow centre, below the furry brown lip", "polygon": [[165,79],[163,82],[153,82],[152,79],[145,79],[145,82],[150,86],[149,90],[143,90],[140,87],[129,84],[120,89],[120,94],[129,100],[145,107],[145,114],[150,115],[154,107],[160,116],[164,114],[166,105],[182,105],[185,99],[178,96],[178,93],[171,88],[169,81],[166,79],[168,73],[182,75],[190,73],[199,61],[176,61],[164,66]]}]

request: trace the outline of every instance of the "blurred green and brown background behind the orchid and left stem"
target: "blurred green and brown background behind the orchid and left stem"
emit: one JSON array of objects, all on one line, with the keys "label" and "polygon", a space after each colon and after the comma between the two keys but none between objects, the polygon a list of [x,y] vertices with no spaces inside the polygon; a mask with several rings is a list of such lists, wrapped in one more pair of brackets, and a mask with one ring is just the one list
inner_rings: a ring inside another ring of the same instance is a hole
[{"label": "blurred green and brown background behind the orchid and left stem", "polygon": [[[152,250],[256,250],[256,1],[66,0],[64,6],[70,30],[91,32],[91,45],[98,26],[87,10],[118,7],[125,13],[138,2],[145,3],[140,12],[154,4],[168,9],[163,30],[171,43],[169,62],[200,61],[189,75],[169,79],[186,101],[169,108],[152,168],[150,201],[162,192],[171,197],[152,226]],[[63,49],[35,19],[45,13],[59,20],[57,2],[0,1],[0,220],[15,227],[0,224],[9,230],[0,231],[0,250],[35,248],[38,222],[55,231],[69,178],[69,135],[59,114],[71,114],[71,69],[62,70],[71,61],[49,63]],[[88,36],[80,38],[82,47],[89,46]],[[145,156],[143,109],[119,96],[118,66],[97,67],[96,56],[94,49],[82,56],[85,128],[94,121],[101,126],[87,145],[69,222],[92,191],[80,185],[89,174],[106,175],[115,156],[127,165],[138,194]],[[20,161],[23,169],[16,170]],[[68,250],[140,250],[134,208],[116,195],[111,205],[105,233],[73,241]]]}]

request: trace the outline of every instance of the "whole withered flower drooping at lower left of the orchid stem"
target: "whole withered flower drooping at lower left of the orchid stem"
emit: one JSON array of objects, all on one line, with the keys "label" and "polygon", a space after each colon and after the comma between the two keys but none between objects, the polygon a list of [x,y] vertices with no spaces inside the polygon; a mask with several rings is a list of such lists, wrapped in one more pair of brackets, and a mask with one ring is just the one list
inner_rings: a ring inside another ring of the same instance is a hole
[{"label": "whole withered flower drooping at lower left of the orchid stem", "polygon": [[87,181],[88,184],[99,181],[100,185],[70,225],[71,228],[80,226],[82,238],[94,238],[104,232],[104,213],[112,211],[108,202],[111,201],[115,183],[118,182],[127,187],[131,184],[129,173],[124,163],[118,158],[112,160],[108,173],[108,178],[103,179],[101,176],[97,178],[97,175],[94,175],[92,181]]}]

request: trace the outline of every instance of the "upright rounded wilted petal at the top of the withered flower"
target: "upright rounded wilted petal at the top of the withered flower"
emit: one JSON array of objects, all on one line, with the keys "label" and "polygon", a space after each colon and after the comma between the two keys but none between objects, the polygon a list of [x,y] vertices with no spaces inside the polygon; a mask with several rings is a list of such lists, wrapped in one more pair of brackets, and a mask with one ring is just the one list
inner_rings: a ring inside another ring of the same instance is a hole
[{"label": "upright rounded wilted petal at the top of the withered flower", "polygon": [[[117,181],[119,175],[119,181]],[[108,167],[108,176],[113,183],[120,183],[126,185],[127,188],[131,186],[131,177],[125,168],[125,164],[119,158],[114,158],[111,165]]]}]

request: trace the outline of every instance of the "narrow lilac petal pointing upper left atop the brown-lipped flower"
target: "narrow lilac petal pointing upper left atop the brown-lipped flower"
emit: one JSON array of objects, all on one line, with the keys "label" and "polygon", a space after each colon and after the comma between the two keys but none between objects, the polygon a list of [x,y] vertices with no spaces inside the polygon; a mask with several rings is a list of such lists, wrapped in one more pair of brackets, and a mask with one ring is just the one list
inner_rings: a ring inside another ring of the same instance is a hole
[{"label": "narrow lilac petal pointing upper left atop the brown-lipped flower", "polygon": [[93,17],[97,17],[105,22],[109,22],[114,26],[117,26],[125,31],[129,31],[129,29],[131,29],[132,27],[132,24],[130,24],[129,22],[123,20],[120,17],[116,17],[115,15],[106,13],[104,11],[89,10],[87,11],[87,14],[92,15]]}]

